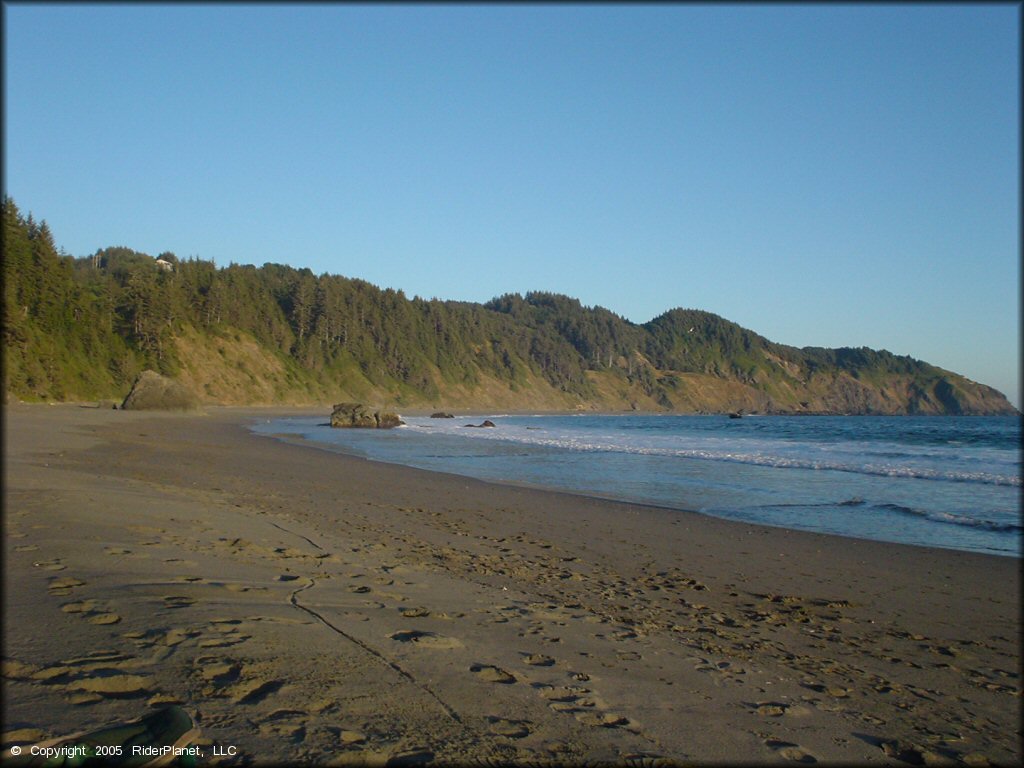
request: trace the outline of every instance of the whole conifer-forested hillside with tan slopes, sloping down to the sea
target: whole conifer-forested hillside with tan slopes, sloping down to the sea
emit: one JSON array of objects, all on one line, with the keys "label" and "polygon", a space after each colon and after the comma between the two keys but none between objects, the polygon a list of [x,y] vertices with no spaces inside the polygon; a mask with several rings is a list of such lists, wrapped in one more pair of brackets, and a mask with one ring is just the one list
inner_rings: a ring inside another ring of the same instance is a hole
[{"label": "whole conifer-forested hillside with tan slopes, sloping down to the sea", "polygon": [[408,298],[282,264],[74,258],[3,203],[4,387],[26,400],[125,395],[154,369],[206,402],[761,413],[1015,413],[910,357],[797,349],[715,314],[638,326],[548,293]]}]

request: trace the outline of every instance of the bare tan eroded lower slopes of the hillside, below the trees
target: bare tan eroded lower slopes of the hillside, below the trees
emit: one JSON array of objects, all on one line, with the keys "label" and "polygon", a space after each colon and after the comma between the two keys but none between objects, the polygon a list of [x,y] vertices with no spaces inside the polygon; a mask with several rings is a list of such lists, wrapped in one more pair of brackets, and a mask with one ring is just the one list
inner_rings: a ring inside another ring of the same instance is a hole
[{"label": "bare tan eroded lower slopes of the hillside, below the trees", "polygon": [[587,391],[570,392],[527,372],[515,384],[480,374],[475,382],[430,374],[435,391],[424,394],[389,382],[371,382],[358,369],[328,374],[289,366],[280,353],[243,332],[230,338],[186,329],[175,338],[176,379],[204,404],[323,406],[342,400],[387,403],[392,409],[668,412],[682,414],[1019,415],[992,387],[932,367],[927,375],[865,373],[768,356],[754,374],[724,366],[708,371],[658,369],[637,353],[620,365],[587,371]]}]

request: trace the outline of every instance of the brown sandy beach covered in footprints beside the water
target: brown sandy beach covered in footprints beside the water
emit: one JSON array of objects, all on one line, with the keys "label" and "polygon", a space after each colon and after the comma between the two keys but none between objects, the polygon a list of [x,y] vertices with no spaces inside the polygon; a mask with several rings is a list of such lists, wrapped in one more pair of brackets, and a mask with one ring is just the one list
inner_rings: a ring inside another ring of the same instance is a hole
[{"label": "brown sandy beach covered in footprints beside the water", "polygon": [[1019,559],[246,428],[279,413],[5,407],[5,749],[174,702],[201,764],[1022,760]]}]

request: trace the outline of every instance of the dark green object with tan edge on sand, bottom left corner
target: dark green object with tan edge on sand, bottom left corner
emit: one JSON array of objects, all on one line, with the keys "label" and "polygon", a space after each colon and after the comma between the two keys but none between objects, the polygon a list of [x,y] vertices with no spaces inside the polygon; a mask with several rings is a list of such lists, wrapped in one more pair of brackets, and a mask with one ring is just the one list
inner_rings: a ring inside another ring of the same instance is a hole
[{"label": "dark green object with tan edge on sand, bottom left corner", "polygon": [[168,707],[127,723],[37,744],[5,750],[5,766],[190,766],[195,756],[185,751],[199,736],[191,717],[180,707]]}]

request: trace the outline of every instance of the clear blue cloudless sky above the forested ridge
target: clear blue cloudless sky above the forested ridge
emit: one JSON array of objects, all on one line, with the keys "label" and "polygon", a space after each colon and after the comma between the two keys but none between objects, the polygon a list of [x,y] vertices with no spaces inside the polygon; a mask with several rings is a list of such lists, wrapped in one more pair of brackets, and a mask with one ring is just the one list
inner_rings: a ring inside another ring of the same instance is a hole
[{"label": "clear blue cloudless sky above the forested ridge", "polygon": [[4,190],[73,255],[695,307],[1020,404],[1018,5],[4,14]]}]

